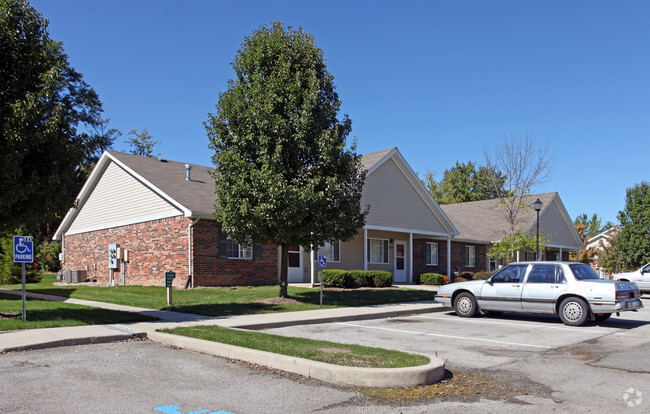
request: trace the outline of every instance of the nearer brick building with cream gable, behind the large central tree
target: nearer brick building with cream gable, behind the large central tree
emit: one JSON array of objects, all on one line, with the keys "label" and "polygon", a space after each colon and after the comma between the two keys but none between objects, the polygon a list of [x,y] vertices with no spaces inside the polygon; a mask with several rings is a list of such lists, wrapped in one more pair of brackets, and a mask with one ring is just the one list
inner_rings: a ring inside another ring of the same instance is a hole
[{"label": "nearer brick building with cream gable, behind the large central tree", "polygon": [[[363,155],[362,162],[361,206],[370,213],[352,241],[317,248],[327,267],[386,270],[397,283],[411,283],[424,270],[447,273],[444,252],[458,232],[397,148]],[[212,214],[212,171],[106,151],[54,235],[63,245],[62,268],[113,284],[162,285],[167,271],[177,274],[177,286],[277,284],[277,246],[242,246],[221,231]],[[314,281],[316,257],[290,249],[289,281]]]}]

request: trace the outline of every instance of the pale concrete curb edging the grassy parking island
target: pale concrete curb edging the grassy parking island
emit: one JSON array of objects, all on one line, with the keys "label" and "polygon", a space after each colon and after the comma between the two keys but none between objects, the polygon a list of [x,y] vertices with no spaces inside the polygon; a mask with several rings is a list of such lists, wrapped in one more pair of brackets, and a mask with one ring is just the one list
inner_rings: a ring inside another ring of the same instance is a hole
[{"label": "pale concrete curb edging the grassy parking island", "polygon": [[426,355],[430,359],[429,364],[417,367],[356,368],[163,332],[148,332],[147,338],[163,345],[175,346],[223,358],[238,359],[337,385],[414,387],[440,381],[445,375],[444,361],[441,358],[430,355]]}]

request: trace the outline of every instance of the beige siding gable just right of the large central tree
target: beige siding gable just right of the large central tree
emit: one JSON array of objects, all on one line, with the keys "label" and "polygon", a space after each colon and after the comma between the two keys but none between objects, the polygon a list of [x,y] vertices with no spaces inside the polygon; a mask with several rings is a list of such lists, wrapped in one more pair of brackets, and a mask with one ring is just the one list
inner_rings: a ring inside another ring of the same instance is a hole
[{"label": "beige siding gable just right of the large central tree", "polygon": [[367,225],[446,233],[393,159],[366,178],[361,206],[366,205],[370,206]]}]

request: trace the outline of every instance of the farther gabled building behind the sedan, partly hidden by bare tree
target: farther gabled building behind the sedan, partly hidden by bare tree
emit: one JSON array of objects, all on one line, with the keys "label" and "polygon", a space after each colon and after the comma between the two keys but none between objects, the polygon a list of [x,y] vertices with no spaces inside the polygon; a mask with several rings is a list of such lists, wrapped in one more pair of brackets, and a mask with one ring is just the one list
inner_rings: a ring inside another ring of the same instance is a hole
[{"label": "farther gabled building behind the sedan, partly hidden by bare tree", "polygon": [[[558,193],[533,194],[524,197],[526,208],[519,213],[517,229],[535,236],[537,212],[535,200],[542,202],[539,215],[539,232],[546,238],[543,260],[568,260],[569,252],[584,249],[584,244],[571,221]],[[441,206],[459,231],[452,241],[452,271],[493,271],[498,265],[487,256],[490,246],[506,234],[508,223],[499,200],[482,200]],[[517,252],[517,261],[535,260],[534,251]]]}]

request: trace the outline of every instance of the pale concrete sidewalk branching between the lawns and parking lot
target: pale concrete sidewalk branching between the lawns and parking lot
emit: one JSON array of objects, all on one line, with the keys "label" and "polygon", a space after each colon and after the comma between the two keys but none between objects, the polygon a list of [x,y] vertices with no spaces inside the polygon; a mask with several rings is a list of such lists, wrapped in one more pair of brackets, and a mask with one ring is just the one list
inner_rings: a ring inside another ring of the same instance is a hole
[{"label": "pale concrete sidewalk branching between the lawns and parking lot", "polygon": [[[0,293],[21,295],[20,291],[15,290],[0,289]],[[0,332],[0,353],[127,340],[134,337],[145,337],[148,332],[154,332],[157,329],[175,328],[179,326],[218,325],[230,328],[263,329],[291,325],[378,319],[437,312],[446,309],[440,303],[427,301],[363,306],[357,308],[318,309],[312,311],[209,317],[179,312],[144,309],[90,300],[62,298],[60,296],[42,295],[30,292],[27,292],[27,295],[42,300],[53,300],[96,308],[135,312],[143,315],[154,316],[160,320],[128,324],[26,329],[22,331]],[[29,310],[27,315],[29,317]]]}]

